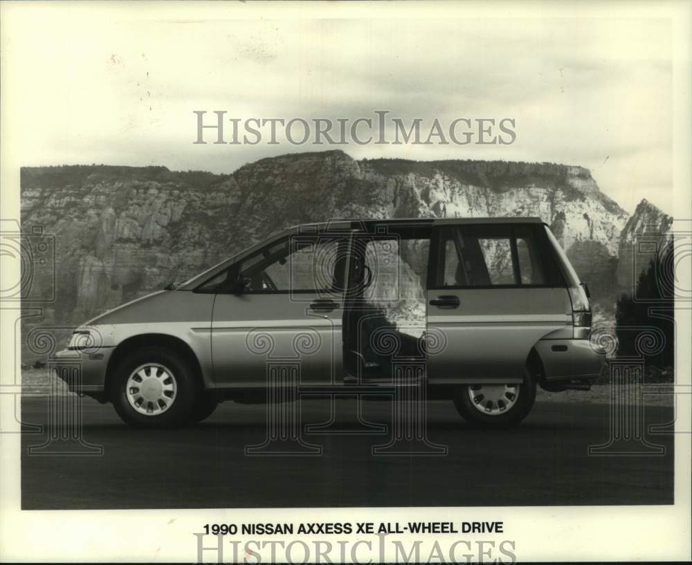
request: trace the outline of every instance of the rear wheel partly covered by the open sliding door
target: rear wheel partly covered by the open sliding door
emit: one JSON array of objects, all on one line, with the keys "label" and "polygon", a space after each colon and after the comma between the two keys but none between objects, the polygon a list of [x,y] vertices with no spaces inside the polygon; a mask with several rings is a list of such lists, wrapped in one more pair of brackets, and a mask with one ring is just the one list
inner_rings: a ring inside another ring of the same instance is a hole
[{"label": "rear wheel partly covered by the open sliding door", "polygon": [[535,400],[536,380],[527,376],[521,385],[463,385],[454,406],[474,427],[511,427],[529,415]]}]

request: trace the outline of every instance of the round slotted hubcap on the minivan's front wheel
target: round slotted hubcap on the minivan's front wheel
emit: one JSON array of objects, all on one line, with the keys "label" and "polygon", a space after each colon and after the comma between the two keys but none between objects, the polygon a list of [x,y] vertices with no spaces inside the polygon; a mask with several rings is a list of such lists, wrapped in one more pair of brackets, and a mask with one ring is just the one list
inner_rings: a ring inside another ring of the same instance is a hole
[{"label": "round slotted hubcap on the minivan's front wheel", "polygon": [[158,363],[145,363],[127,379],[127,400],[145,416],[158,416],[175,402],[177,384],[172,371]]}]

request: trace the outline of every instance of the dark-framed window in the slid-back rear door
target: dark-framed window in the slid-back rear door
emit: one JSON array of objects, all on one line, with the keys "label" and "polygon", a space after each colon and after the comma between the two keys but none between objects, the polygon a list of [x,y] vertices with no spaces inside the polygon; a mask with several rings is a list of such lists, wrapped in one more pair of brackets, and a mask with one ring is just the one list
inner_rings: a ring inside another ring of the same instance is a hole
[{"label": "dark-framed window in the slid-back rear door", "polygon": [[439,229],[433,288],[565,286],[543,225]]}]

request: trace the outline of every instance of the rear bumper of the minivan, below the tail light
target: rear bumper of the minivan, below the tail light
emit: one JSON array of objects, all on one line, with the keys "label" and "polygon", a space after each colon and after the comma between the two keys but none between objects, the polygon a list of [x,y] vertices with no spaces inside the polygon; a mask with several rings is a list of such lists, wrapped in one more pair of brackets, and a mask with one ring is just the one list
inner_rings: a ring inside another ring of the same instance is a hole
[{"label": "rear bumper of the minivan, below the tail light", "polygon": [[536,351],[543,362],[545,380],[593,380],[599,378],[605,353],[589,340],[540,340]]}]

